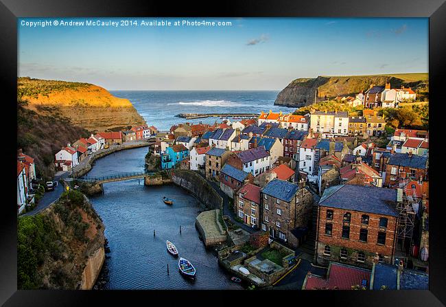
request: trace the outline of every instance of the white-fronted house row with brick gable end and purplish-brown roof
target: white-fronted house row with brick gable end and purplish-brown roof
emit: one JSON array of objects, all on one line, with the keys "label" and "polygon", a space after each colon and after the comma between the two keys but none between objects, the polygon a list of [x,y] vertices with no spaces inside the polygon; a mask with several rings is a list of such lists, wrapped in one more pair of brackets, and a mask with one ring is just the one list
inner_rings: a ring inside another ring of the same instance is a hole
[{"label": "white-fronted house row with brick gable end and purplish-brown roof", "polygon": [[269,170],[271,166],[270,155],[264,146],[234,152],[228,157],[227,163],[244,172],[250,172],[254,176]]}]

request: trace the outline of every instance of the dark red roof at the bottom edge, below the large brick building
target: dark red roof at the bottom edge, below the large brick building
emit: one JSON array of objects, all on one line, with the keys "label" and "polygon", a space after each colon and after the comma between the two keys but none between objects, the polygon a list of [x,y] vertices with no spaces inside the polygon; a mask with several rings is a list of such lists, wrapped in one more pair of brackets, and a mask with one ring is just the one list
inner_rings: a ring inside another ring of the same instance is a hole
[{"label": "dark red roof at the bottom edge, below the large brick building", "polygon": [[361,286],[363,280],[367,281],[366,288],[368,288],[370,286],[370,274],[371,271],[365,269],[347,266],[344,264],[331,263],[329,266],[329,272],[327,273],[328,279],[325,280],[322,277],[308,273],[305,289],[333,289],[336,287],[339,290],[351,290],[351,286]]}]

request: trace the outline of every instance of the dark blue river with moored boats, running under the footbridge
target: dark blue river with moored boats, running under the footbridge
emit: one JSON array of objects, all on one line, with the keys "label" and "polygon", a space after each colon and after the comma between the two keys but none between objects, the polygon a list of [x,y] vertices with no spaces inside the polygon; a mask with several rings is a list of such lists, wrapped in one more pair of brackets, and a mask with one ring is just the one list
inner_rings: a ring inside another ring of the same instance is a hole
[{"label": "dark blue river with moored boats, running under the footbridge", "polygon": [[[148,148],[122,150],[95,161],[89,176],[144,169]],[[174,205],[163,203],[163,196]],[[102,289],[241,289],[218,266],[215,252],[204,248],[195,219],[200,202],[176,185],[145,187],[138,179],[104,183],[104,194],[90,198],[104,221],[110,258],[99,281]],[[181,234],[180,234],[181,226]],[[154,236],[154,230],[156,235]],[[167,252],[170,240],[180,256],[196,267],[196,280],[178,272],[178,258]],[[167,265],[169,273],[167,273]]]}]

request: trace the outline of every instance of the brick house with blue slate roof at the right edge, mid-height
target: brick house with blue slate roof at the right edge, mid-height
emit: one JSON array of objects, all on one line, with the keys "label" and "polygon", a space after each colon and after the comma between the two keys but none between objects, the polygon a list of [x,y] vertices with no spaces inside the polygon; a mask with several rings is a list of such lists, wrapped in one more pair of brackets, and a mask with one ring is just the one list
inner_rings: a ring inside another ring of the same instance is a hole
[{"label": "brick house with blue slate roof at the right edge, mid-height", "polygon": [[386,186],[398,183],[400,179],[418,180],[427,178],[427,157],[395,152],[390,155],[386,165]]}]

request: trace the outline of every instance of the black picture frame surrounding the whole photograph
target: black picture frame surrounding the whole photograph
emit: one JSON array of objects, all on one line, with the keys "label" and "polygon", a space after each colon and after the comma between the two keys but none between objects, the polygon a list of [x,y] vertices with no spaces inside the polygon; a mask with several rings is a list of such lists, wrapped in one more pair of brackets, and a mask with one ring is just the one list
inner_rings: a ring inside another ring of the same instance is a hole
[{"label": "black picture frame surrounding the whole photograph", "polygon": [[[212,6],[211,6],[212,5]],[[441,104],[445,73],[446,55],[446,3],[443,0],[425,1],[222,1],[205,3],[182,1],[24,1],[1,0],[0,42],[1,73],[4,86],[2,107],[5,110],[3,123],[3,210],[1,216],[0,240],[0,303],[5,306],[90,306],[110,304],[125,299],[142,299],[143,304],[163,304],[166,297],[169,304],[181,304],[182,291],[17,291],[16,286],[16,210],[12,191],[15,173],[16,148],[16,77],[17,77],[17,17],[51,16],[270,16],[270,17],[428,17],[429,18],[429,80],[430,80],[430,285],[429,291],[202,291],[193,295],[207,304],[259,304],[263,297],[277,303],[289,300],[290,304],[324,303],[331,306],[444,306],[446,304],[446,245],[443,226],[444,201],[441,192],[442,142]],[[403,50],[401,51],[403,52]],[[438,100],[438,101],[437,101]],[[443,120],[444,121],[444,120]],[[11,142],[11,143],[10,143]],[[444,163],[443,163],[444,165]],[[436,178],[438,177],[438,178]],[[172,293],[172,294],[171,294]],[[190,293],[189,293],[190,295]],[[302,302],[302,299],[307,302]],[[258,301],[258,302],[257,302]],[[134,301],[138,302],[138,301]],[[266,301],[264,301],[266,302]],[[261,304],[261,303],[260,303]],[[264,304],[264,303],[263,303]],[[268,304],[268,303],[267,303]],[[273,303],[274,304],[274,303]]]}]

